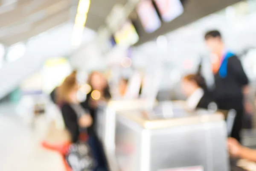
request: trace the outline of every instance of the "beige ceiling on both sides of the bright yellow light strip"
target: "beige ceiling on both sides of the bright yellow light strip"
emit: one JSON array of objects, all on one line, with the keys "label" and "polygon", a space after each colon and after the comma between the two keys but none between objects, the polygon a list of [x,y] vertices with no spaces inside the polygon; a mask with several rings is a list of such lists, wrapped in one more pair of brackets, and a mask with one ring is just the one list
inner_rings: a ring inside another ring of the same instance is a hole
[{"label": "beige ceiling on both sides of the bright yellow light strip", "polygon": [[[116,3],[127,0],[92,0],[86,27],[94,31],[104,25]],[[74,22],[79,0],[0,0],[0,43],[25,42],[55,26]]]}]

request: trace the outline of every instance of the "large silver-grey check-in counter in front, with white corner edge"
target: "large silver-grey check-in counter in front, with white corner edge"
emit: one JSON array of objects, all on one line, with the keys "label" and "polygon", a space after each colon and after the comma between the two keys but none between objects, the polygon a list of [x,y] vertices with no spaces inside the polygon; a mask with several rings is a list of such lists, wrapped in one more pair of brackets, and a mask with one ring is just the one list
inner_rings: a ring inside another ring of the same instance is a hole
[{"label": "large silver-grey check-in counter in front, with white corner edge", "polygon": [[115,157],[121,171],[229,171],[221,113],[116,112]]}]

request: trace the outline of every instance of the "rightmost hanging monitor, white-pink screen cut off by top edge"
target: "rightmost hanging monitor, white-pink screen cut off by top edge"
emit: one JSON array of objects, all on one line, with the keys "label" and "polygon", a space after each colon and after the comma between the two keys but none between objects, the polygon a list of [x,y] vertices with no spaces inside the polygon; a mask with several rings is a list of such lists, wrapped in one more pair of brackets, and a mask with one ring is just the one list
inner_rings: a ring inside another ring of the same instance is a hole
[{"label": "rightmost hanging monitor, white-pink screen cut off by top edge", "polygon": [[164,22],[170,22],[184,12],[180,0],[154,0],[154,2]]}]

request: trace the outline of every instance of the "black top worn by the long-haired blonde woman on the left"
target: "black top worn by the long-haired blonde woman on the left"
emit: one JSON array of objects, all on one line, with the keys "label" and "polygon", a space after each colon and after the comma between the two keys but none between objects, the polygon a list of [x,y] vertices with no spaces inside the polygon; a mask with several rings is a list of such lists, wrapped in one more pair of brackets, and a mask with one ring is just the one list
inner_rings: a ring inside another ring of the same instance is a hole
[{"label": "black top worn by the long-haired blonde woman on the left", "polygon": [[70,132],[72,142],[77,142],[79,139],[79,125],[77,122],[77,115],[70,104],[63,104],[61,113],[64,119],[65,126]]}]

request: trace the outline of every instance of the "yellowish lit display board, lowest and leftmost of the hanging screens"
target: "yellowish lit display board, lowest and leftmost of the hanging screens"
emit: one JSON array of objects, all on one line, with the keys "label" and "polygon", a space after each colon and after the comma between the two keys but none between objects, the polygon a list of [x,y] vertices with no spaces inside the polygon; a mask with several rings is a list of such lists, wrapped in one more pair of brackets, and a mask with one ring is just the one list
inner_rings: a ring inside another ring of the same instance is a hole
[{"label": "yellowish lit display board, lowest and leftmost of the hanging screens", "polygon": [[116,44],[122,46],[131,46],[139,41],[139,35],[130,20],[127,20],[113,37]]}]

